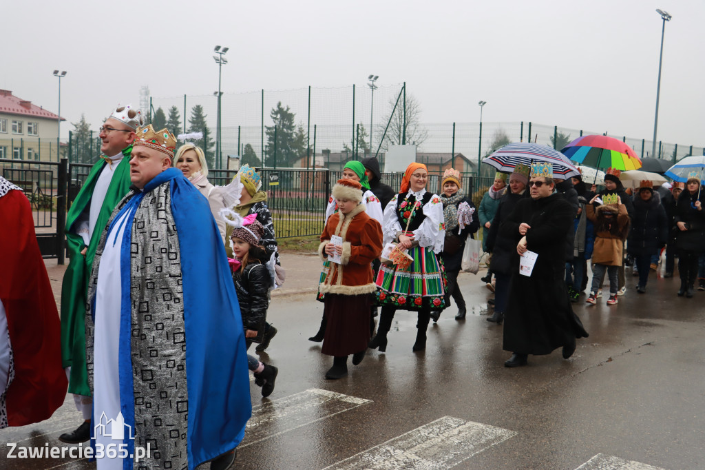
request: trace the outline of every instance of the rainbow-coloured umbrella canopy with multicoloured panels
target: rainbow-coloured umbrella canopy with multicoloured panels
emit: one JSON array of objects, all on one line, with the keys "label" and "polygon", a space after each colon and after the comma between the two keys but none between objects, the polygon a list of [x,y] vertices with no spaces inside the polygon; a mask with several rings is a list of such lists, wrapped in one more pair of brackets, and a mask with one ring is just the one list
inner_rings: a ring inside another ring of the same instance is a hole
[{"label": "rainbow-coloured umbrella canopy with multicoloured panels", "polygon": [[596,169],[625,171],[642,167],[642,160],[629,145],[607,135],[583,135],[563,147],[561,152],[573,162]]}]

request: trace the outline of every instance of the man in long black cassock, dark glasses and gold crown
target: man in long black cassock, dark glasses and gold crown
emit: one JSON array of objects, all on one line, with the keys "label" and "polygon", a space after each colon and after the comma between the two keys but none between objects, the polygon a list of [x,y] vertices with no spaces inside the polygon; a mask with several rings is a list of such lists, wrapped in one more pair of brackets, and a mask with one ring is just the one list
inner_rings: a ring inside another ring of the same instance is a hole
[{"label": "man in long black cassock, dark glasses and gold crown", "polygon": [[[565,236],[575,211],[556,193],[551,164],[532,164],[530,199],[519,200],[500,227],[501,236],[517,242],[505,311],[506,367],[525,366],[529,354],[550,354],[563,347],[563,357],[575,351],[575,339],[587,337],[573,313],[565,286]],[[520,274],[520,256],[537,253],[529,275]]]}]

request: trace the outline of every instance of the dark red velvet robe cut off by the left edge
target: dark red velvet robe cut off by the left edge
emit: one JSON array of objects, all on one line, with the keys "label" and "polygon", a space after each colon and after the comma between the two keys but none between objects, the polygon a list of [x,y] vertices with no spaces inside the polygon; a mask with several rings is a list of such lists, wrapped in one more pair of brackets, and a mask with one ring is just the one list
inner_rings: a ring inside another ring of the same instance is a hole
[{"label": "dark red velvet robe cut off by the left edge", "polygon": [[[14,379],[6,390],[9,426],[50,418],[63,404],[61,326],[35,237],[30,202],[17,190],[0,197],[0,301],[7,316]],[[5,384],[0,385],[0,393]]]}]

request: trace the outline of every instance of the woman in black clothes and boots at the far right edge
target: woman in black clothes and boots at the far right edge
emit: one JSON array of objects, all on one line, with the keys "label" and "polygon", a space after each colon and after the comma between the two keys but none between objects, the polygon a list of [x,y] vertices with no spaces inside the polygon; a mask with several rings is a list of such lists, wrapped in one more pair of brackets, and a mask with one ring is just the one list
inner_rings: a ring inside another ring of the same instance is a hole
[{"label": "woman in black clothes and boots at the far right edge", "polygon": [[675,225],[678,235],[675,246],[678,248],[678,273],[680,290],[678,296],[693,296],[695,279],[698,277],[698,258],[705,250],[705,193],[699,191],[700,179],[689,178],[685,191],[680,193],[675,212]]}]

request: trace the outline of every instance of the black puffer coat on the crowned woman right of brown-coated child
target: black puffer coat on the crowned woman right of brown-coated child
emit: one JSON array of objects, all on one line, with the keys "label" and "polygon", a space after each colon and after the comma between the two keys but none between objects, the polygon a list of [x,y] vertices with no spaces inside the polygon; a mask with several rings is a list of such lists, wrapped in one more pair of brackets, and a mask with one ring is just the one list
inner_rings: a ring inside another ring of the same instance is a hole
[{"label": "black puffer coat on the crowned woman right of brown-coated child", "polygon": [[642,200],[637,193],[634,200],[632,229],[627,238],[630,255],[655,255],[668,241],[668,217],[656,194]]}]

